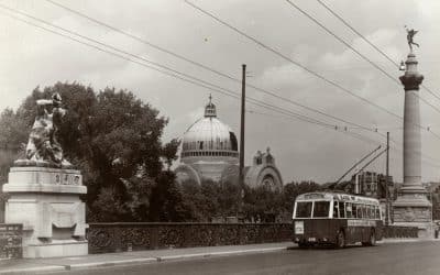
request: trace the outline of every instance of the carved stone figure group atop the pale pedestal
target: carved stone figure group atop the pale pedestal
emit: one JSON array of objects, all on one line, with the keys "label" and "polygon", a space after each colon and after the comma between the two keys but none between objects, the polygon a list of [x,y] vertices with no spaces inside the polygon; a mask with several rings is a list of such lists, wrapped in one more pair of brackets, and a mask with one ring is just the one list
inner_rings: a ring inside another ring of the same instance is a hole
[{"label": "carved stone figure group atop the pale pedestal", "polygon": [[[52,99],[36,100],[37,111],[25,148],[26,160],[19,160],[19,166],[72,166],[63,156],[63,148],[57,140],[58,127],[66,110],[62,108],[62,97],[54,94]],[[51,108],[52,107],[52,108]]]}]

